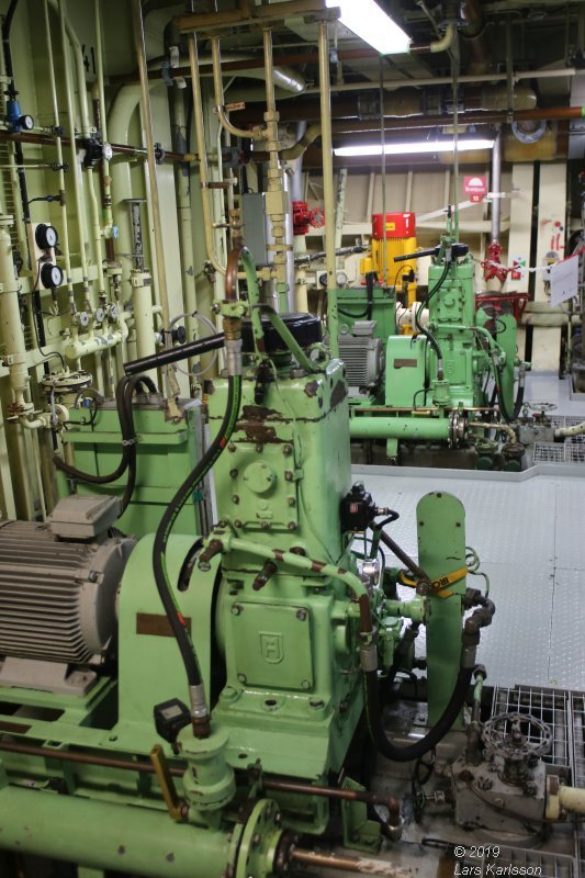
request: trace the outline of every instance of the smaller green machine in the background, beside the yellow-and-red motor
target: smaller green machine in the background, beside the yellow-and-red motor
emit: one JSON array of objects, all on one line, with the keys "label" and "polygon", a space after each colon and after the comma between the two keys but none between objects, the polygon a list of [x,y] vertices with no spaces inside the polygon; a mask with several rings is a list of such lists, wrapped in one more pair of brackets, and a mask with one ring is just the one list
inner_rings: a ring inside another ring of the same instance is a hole
[{"label": "smaller green machine in the background, beside the yellow-and-red motor", "polygon": [[[450,233],[439,247],[401,259],[425,255],[435,261],[426,311],[419,305],[415,316],[418,335],[387,338],[384,404],[374,412],[353,408],[351,437],[385,439],[387,457],[396,459],[400,443],[490,446],[490,425],[505,421],[508,458],[517,460],[521,447],[506,426],[517,417],[524,393],[526,364],[516,356],[516,320],[510,315],[494,319],[476,308],[473,260]],[[492,446],[497,450],[497,442]]]}]

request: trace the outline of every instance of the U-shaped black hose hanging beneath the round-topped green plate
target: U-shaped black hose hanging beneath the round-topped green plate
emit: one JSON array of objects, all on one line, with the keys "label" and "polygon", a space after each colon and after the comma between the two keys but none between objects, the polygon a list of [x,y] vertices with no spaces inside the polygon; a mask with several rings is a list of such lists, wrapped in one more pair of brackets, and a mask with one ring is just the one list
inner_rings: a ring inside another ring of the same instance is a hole
[{"label": "U-shaped black hose hanging beneath the round-topped green plate", "polygon": [[410,762],[419,759],[429,750],[436,747],[451,729],[465,703],[472,675],[473,667],[461,667],[449,703],[432,729],[414,744],[397,746],[389,741],[382,723],[378,671],[364,672],[365,717],[372,743],[378,752],[393,762]]}]

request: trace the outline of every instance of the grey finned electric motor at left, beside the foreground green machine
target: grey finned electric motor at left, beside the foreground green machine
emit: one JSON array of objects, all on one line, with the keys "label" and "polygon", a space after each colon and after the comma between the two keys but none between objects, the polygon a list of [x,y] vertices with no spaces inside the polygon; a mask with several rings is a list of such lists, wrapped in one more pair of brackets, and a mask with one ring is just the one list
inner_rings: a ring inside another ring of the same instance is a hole
[{"label": "grey finned electric motor at left, beside the foreground green machine", "polygon": [[104,653],[135,544],[108,536],[116,509],[112,497],[69,497],[47,525],[0,522],[0,655],[82,664]]}]

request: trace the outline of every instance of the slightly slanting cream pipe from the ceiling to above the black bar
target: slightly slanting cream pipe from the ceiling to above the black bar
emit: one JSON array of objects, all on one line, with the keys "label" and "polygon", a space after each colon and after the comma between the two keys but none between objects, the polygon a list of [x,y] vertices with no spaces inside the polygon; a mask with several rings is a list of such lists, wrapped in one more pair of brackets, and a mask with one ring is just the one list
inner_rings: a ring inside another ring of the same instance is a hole
[{"label": "slightly slanting cream pipe from the ceiling to above the black bar", "polygon": [[160,202],[158,198],[158,179],[156,170],[155,145],[153,138],[153,114],[150,110],[150,91],[148,88],[148,72],[146,69],[146,45],[142,13],[142,0],[132,0],[134,23],[134,37],[138,69],[140,71],[140,110],[143,128],[146,135],[146,156],[148,162],[148,177],[150,182],[150,204],[153,210],[153,225],[155,227],[155,249],[157,262],[158,299],[161,306],[162,326],[170,322],[169,295],[167,290],[167,272],[165,269],[165,244],[162,240],[162,223],[160,218]]}]

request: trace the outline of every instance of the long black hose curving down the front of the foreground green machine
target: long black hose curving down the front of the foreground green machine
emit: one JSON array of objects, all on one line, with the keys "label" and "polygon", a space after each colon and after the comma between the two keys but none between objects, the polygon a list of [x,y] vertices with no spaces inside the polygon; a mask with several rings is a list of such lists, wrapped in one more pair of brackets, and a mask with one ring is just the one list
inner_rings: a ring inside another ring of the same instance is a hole
[{"label": "long black hose curving down the front of the foreground green machine", "polygon": [[211,470],[226,447],[236,426],[241,402],[241,378],[239,375],[230,375],[227,379],[227,407],[217,436],[205,451],[193,472],[185,479],[169,503],[160,525],[158,526],[153,545],[153,569],[158,594],[165,607],[165,612],[167,614],[172,633],[177,640],[189,686],[201,685],[201,668],[199,666],[193,641],[191,640],[191,634],[170,587],[166,551],[170,532],[181,509],[191,496],[193,489],[205,477],[206,473]]}]

